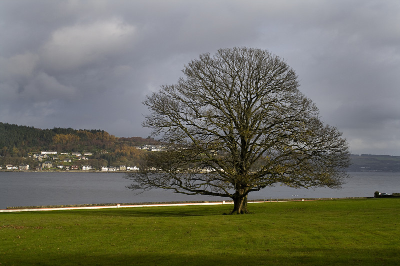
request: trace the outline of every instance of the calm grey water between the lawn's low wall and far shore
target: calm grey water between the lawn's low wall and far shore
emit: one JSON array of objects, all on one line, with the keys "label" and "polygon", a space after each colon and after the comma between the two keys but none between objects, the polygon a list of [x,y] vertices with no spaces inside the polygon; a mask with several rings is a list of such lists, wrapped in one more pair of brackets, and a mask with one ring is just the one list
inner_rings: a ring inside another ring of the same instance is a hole
[{"label": "calm grey water between the lawn's low wall and far shore", "polygon": [[[400,173],[350,173],[340,190],[265,188],[249,199],[372,197],[375,191],[400,193]],[[94,203],[138,203],[222,200],[210,196],[187,196],[165,190],[136,195],[125,188],[130,180],[121,173],[0,172],[0,209],[8,206],[66,205]]]}]

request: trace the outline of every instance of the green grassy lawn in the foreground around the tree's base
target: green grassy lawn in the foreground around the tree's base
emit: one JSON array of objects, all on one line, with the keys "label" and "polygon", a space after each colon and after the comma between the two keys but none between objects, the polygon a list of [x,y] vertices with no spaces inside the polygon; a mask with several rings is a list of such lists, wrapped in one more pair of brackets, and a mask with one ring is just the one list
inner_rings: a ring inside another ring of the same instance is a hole
[{"label": "green grassy lawn in the foreground around the tree's base", "polygon": [[0,214],[0,265],[399,265],[400,198]]}]

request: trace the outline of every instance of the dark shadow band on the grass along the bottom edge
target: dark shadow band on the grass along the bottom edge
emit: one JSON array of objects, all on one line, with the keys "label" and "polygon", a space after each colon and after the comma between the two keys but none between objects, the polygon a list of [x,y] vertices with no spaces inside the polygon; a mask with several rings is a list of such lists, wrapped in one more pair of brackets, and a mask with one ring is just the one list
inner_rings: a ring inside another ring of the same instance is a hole
[{"label": "dark shadow band on the grass along the bottom edge", "polygon": [[384,250],[375,251],[370,255],[365,250],[348,249],[345,253],[338,255],[335,251],[328,249],[280,250],[273,251],[265,248],[257,254],[244,250],[235,252],[213,251],[207,254],[204,250],[196,251],[168,251],[168,247],[160,251],[143,250],[132,251],[107,251],[105,254],[90,254],[76,251],[73,255],[60,255],[50,253],[44,257],[15,257],[12,262],[9,256],[3,258],[2,263],[8,265],[397,265],[398,256]]}]

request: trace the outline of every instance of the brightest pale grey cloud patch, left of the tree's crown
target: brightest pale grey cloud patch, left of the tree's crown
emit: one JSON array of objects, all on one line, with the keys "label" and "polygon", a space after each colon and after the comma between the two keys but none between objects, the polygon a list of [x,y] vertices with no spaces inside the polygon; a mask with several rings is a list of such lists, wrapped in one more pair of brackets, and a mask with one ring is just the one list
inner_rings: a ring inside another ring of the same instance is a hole
[{"label": "brightest pale grey cloud patch, left of the tree's crown", "polygon": [[44,64],[69,71],[87,64],[104,63],[114,54],[127,52],[135,28],[118,19],[59,28],[41,48]]}]

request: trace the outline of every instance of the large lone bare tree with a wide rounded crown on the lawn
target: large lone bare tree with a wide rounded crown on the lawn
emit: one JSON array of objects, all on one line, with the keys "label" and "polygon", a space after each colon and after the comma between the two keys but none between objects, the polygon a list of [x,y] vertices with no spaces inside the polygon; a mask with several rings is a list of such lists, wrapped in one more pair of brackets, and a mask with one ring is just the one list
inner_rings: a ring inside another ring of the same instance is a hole
[{"label": "large lone bare tree with a wide rounded crown on the lawn", "polygon": [[253,48],[201,54],[174,85],[143,102],[143,126],[175,149],[150,153],[128,188],[171,189],[231,198],[247,213],[247,195],[275,183],[338,188],[347,177],[348,145],[299,90],[280,57]]}]

